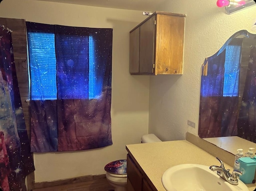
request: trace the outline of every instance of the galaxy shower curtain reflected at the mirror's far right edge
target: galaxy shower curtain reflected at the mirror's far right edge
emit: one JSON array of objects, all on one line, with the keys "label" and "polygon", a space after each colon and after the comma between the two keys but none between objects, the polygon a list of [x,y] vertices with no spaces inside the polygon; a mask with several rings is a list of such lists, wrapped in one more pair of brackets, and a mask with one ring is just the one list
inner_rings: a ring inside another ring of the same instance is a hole
[{"label": "galaxy shower curtain reflected at the mirror's far right edge", "polygon": [[238,117],[238,136],[256,143],[256,47],[251,49],[242,104]]}]

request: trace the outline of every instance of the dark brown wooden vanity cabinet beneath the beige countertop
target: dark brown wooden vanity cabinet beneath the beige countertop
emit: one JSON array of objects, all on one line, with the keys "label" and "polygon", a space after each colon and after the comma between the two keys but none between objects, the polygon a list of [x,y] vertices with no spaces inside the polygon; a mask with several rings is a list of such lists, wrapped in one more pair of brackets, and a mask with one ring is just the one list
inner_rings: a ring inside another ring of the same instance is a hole
[{"label": "dark brown wooden vanity cabinet beneath the beige countertop", "polygon": [[127,155],[127,190],[157,191],[129,154]]}]

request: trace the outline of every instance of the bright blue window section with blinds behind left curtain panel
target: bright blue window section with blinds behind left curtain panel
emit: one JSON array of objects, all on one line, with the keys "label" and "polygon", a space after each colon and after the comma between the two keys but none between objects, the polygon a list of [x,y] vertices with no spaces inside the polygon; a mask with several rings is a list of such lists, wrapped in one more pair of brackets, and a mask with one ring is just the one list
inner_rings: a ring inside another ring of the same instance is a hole
[{"label": "bright blue window section with blinds behind left curtain panel", "polygon": [[32,99],[57,99],[54,34],[29,32]]}]

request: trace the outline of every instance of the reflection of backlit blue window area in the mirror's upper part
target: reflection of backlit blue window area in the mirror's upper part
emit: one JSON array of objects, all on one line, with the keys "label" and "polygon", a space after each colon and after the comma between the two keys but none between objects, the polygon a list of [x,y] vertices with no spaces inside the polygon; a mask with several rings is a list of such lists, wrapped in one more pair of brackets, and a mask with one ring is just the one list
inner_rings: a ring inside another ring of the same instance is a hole
[{"label": "reflection of backlit blue window area in the mirror's upper part", "polygon": [[238,40],[206,59],[204,68],[207,72],[201,78],[201,96],[238,96],[241,49],[242,42]]}]

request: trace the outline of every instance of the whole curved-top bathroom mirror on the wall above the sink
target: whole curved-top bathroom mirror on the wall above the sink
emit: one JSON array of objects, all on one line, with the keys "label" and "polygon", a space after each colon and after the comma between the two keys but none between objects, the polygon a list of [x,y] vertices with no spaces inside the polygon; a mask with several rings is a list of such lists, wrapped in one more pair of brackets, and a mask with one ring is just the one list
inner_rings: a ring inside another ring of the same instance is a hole
[{"label": "whole curved-top bathroom mirror on the wall above the sink", "polygon": [[256,143],[256,34],[236,32],[202,64],[198,135]]}]

